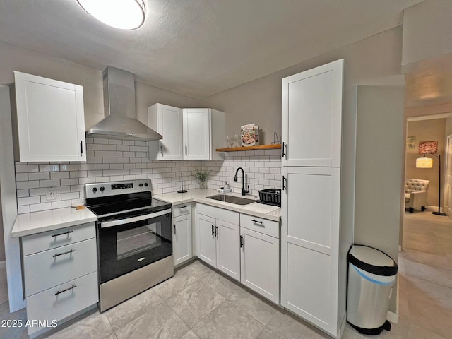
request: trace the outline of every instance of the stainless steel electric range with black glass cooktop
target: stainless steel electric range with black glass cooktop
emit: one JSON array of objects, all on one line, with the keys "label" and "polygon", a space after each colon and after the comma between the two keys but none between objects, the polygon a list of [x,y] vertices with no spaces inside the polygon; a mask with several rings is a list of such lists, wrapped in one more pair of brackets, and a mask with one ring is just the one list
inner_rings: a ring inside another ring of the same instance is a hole
[{"label": "stainless steel electric range with black glass cooktop", "polygon": [[97,215],[101,312],[174,275],[171,204],[152,197],[150,179],[86,184],[85,194]]}]

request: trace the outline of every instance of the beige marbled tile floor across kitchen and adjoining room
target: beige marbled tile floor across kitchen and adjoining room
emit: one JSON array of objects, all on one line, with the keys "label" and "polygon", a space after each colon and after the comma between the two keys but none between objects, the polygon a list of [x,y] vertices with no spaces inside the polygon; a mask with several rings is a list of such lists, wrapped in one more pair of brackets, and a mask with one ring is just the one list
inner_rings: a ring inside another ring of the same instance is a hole
[{"label": "beige marbled tile floor across kitchen and adjoining room", "polygon": [[[399,323],[381,335],[360,335],[349,325],[343,338],[452,338],[452,222],[448,217],[405,214],[399,256]],[[0,319],[23,319],[24,310]],[[194,261],[173,278],[102,314],[90,311],[42,338],[329,338],[215,270]],[[0,328],[0,338],[28,338],[24,329]]]}]

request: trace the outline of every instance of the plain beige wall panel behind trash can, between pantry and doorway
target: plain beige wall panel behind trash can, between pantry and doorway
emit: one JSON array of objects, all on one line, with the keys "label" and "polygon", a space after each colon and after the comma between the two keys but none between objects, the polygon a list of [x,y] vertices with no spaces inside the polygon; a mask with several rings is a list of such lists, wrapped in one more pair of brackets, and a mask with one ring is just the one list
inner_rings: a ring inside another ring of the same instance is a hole
[{"label": "plain beige wall panel behind trash can, between pantry and doorway", "polygon": [[[398,261],[403,187],[403,88],[358,86],[355,244]],[[389,310],[396,313],[396,294]]]}]

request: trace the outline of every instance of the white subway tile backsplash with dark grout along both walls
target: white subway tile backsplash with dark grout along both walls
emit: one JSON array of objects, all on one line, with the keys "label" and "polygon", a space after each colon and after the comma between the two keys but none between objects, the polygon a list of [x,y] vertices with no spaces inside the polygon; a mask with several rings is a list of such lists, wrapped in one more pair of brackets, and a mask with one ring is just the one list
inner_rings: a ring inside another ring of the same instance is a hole
[{"label": "white subway tile backsplash with dark grout along both walls", "polygon": [[[150,161],[148,144],[142,141],[86,138],[87,162],[37,164],[16,162],[18,213],[69,207],[85,203],[85,184],[94,182],[151,179],[153,194],[184,188],[197,189],[191,175],[197,168],[210,170],[208,187],[217,189],[229,182],[232,191],[242,190],[242,175],[234,182],[237,167],[245,171],[245,185],[253,194],[260,189],[279,188],[280,150],[246,150],[225,153],[225,160]],[[57,201],[47,201],[47,187],[57,188]],[[21,199],[19,201],[19,199]]]}]

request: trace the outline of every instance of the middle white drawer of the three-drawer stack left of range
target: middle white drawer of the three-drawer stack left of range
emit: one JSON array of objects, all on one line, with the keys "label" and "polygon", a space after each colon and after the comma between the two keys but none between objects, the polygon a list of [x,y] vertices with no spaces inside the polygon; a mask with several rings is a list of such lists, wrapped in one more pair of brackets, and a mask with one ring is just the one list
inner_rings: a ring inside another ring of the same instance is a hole
[{"label": "middle white drawer of the three-drawer stack left of range", "polygon": [[96,239],[23,257],[28,297],[97,270]]}]

